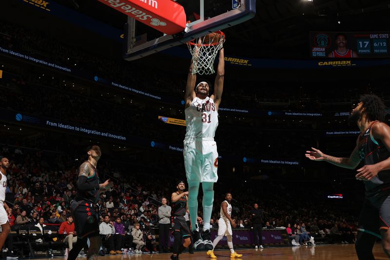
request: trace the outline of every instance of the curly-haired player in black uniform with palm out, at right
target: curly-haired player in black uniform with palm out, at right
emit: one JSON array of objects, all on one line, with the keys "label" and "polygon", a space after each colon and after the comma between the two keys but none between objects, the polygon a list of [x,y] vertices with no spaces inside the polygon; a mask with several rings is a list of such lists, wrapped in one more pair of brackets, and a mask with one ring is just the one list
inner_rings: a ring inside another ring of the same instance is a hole
[{"label": "curly-haired player in black uniform with palm out, at right", "polygon": [[314,161],[324,160],[350,169],[363,165],[355,176],[364,181],[366,188],[355,243],[359,260],[374,260],[372,248],[380,237],[379,231],[384,251],[390,257],[390,127],[379,121],[386,113],[381,99],[363,95],[349,117],[361,132],[350,158],[332,157],[314,148],[306,151],[306,157]]}]

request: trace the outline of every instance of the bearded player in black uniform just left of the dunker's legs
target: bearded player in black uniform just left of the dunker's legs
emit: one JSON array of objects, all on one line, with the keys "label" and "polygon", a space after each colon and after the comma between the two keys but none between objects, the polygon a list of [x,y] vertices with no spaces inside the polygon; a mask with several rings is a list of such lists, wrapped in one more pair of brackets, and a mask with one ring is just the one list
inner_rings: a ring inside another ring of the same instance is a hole
[{"label": "bearded player in black uniform just left of the dunker's legs", "polygon": [[184,181],[177,182],[177,191],[172,193],[172,233],[175,241],[173,246],[172,260],[178,260],[178,255],[182,251],[180,248],[181,238],[183,238],[183,247],[188,247],[191,244],[191,232],[188,228],[187,221],[184,219],[184,215],[188,211],[188,191],[185,190]]}]

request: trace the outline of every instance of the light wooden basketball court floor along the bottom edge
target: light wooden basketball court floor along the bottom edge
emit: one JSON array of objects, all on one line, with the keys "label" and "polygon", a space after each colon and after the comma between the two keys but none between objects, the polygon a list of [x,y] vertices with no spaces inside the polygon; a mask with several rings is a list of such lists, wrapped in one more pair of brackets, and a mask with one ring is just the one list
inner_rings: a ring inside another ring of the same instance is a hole
[{"label": "light wooden basketball court floor along the bottom edge", "polygon": [[[242,260],[357,260],[355,248],[353,244],[331,244],[331,245],[316,245],[316,246],[294,246],[294,247],[272,247],[264,249],[237,249],[238,253],[242,254]],[[376,260],[388,260],[382,250],[382,245],[376,243],[374,246],[374,256]],[[217,259],[230,259],[230,251],[216,250]],[[98,259],[110,260],[169,260],[171,254],[137,254],[137,255],[115,255],[99,257]],[[66,260],[64,258],[56,258]],[[80,260],[86,258],[78,258]],[[191,255],[187,252],[180,255],[180,260],[198,260],[209,259],[206,252],[195,252]]]}]

